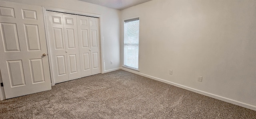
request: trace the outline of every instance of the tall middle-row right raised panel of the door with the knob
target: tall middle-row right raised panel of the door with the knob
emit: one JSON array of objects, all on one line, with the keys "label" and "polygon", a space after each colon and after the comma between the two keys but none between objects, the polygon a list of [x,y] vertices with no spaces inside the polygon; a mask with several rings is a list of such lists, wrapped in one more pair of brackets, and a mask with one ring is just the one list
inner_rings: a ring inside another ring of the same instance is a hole
[{"label": "tall middle-row right raised panel of the door with the knob", "polygon": [[28,51],[40,51],[38,25],[24,24]]}]

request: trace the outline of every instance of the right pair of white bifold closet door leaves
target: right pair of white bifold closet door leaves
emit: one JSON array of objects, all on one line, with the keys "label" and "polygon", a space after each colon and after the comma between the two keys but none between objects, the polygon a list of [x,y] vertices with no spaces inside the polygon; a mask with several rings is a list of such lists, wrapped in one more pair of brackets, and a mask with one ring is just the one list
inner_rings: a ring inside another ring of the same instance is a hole
[{"label": "right pair of white bifold closet door leaves", "polygon": [[77,23],[81,76],[99,74],[101,72],[99,19],[77,16]]}]

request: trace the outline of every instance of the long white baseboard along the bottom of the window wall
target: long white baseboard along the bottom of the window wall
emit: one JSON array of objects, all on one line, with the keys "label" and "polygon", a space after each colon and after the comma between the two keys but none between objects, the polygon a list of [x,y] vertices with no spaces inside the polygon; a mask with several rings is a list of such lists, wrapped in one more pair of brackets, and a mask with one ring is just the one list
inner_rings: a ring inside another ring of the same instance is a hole
[{"label": "long white baseboard along the bottom of the window wall", "polygon": [[173,86],[176,86],[176,87],[179,87],[179,88],[183,88],[183,89],[186,89],[186,90],[198,93],[198,94],[202,94],[204,96],[208,96],[208,97],[211,97],[211,98],[215,98],[215,99],[219,99],[219,100],[222,100],[222,101],[226,101],[228,103],[232,103],[234,105],[238,105],[238,106],[245,107],[245,108],[252,109],[252,110],[256,111],[256,106],[255,105],[251,105],[251,104],[248,104],[248,103],[243,103],[241,101],[237,101],[237,100],[234,100],[234,99],[226,98],[226,97],[223,97],[223,96],[218,96],[216,94],[212,94],[212,93],[209,93],[209,92],[204,92],[202,90],[197,90],[197,89],[194,89],[194,88],[190,88],[188,86],[183,86],[183,85],[180,85],[180,84],[177,84],[177,83],[174,83],[174,82],[170,82],[170,81],[167,81],[167,80],[156,78],[154,76],[150,76],[150,75],[147,75],[147,74],[142,74],[140,72],[136,72],[136,71],[124,68],[124,67],[122,67],[121,69],[125,70],[125,71],[128,71],[128,72],[131,72],[131,73],[134,73],[134,74],[138,74],[140,76],[145,76],[147,78],[151,78],[151,79],[154,79],[154,80],[157,80],[157,81],[160,81],[160,82],[164,82],[166,84],[170,84],[170,85],[173,85]]}]

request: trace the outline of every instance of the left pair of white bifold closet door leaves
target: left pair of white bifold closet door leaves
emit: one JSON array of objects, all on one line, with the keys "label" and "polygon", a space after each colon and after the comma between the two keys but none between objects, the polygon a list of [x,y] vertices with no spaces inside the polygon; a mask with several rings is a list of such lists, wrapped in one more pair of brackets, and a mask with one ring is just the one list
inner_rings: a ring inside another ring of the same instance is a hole
[{"label": "left pair of white bifold closet door leaves", "polygon": [[76,16],[47,11],[54,83],[81,78]]}]

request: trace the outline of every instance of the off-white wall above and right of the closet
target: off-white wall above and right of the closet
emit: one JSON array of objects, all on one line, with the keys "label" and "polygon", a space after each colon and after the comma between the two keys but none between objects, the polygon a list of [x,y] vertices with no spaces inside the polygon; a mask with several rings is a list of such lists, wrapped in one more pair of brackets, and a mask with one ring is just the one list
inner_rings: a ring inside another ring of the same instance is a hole
[{"label": "off-white wall above and right of the closet", "polygon": [[[4,0],[37,6],[60,8],[101,15],[101,38],[104,37],[105,70],[120,68],[120,10],[98,6],[78,0]],[[113,64],[110,64],[113,61]],[[2,79],[0,79],[0,82]],[[1,87],[2,88],[2,87]],[[5,99],[0,88],[0,99]],[[3,97],[2,97],[3,96]]]}]

